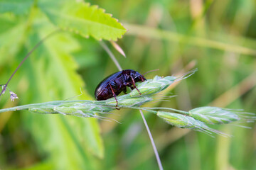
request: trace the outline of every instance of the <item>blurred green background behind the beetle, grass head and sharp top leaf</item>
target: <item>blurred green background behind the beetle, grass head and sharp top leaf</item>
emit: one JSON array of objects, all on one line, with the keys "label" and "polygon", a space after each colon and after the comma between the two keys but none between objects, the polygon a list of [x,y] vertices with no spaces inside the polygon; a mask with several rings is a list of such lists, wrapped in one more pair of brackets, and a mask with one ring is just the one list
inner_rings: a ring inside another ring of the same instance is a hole
[{"label": "blurred green background behind the beetle, grass head and sharp top leaf", "polygon": [[[256,3],[253,0],[89,1],[123,23],[117,43],[122,57],[105,41],[123,69],[167,76],[198,68],[165,92],[169,102],[146,106],[188,111],[200,106],[256,111]],[[37,9],[0,16],[0,84],[54,27]],[[8,19],[6,19],[8,18]],[[17,24],[18,23],[18,24]],[[1,96],[1,108],[63,100],[92,99],[97,84],[117,72],[93,38],[53,35],[33,52],[11,80],[19,99]],[[102,121],[28,111],[0,113],[0,169],[158,169],[137,111],[114,111]],[[233,137],[210,137],[174,128],[146,114],[164,169],[256,169],[256,126],[213,126]]]}]

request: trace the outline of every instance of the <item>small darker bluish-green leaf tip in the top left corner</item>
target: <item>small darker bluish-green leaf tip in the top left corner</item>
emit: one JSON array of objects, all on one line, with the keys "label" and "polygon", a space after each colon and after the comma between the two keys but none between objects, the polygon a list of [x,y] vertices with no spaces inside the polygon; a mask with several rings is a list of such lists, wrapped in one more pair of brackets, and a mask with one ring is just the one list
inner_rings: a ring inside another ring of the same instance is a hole
[{"label": "small darker bluish-green leaf tip in the top left corner", "polygon": [[23,14],[33,5],[33,0],[0,0],[0,13]]}]

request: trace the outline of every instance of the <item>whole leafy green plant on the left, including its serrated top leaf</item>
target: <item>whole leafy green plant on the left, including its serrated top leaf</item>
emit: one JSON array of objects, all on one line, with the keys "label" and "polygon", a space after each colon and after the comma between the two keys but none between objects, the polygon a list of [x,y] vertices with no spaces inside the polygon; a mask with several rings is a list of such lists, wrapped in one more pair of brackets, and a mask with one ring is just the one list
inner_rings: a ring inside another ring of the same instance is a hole
[{"label": "whole leafy green plant on the left, including its serrated top leaf", "polygon": [[[26,53],[56,27],[97,40],[117,40],[126,31],[103,9],[83,2],[0,1],[0,13],[3,13],[0,16],[3,81],[11,75],[8,67],[16,67],[16,62],[21,62]],[[22,90],[18,92],[23,96],[21,103],[70,98],[80,94],[80,88],[85,86],[72,54],[81,47],[72,35],[60,32],[43,42],[17,72],[18,79],[11,80],[14,84],[21,84]],[[12,84],[9,86],[18,89]],[[78,98],[89,99],[91,96],[84,91]],[[104,157],[104,147],[96,119],[22,114],[21,120],[23,129],[33,137],[38,153],[49,155],[43,160],[53,169],[99,168],[97,160]]]}]

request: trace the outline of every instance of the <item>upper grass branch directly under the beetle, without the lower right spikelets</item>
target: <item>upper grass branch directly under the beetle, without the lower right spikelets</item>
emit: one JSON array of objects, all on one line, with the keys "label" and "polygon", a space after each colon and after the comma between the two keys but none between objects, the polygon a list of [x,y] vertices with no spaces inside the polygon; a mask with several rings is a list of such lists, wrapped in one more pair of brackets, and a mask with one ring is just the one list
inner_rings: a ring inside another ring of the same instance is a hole
[{"label": "upper grass branch directly under the beetle, without the lower right spikelets", "polygon": [[[118,96],[118,106],[120,108],[131,108],[132,106],[141,106],[142,104],[153,101],[153,94],[163,91],[170,86],[178,77],[159,77],[149,79],[137,86],[142,95],[134,89],[131,93]],[[91,117],[94,113],[107,113],[115,109],[116,101],[110,98],[105,101],[52,101],[46,103],[35,103],[25,106],[16,106],[14,108],[0,109],[1,112],[28,110],[33,113],[63,115],[81,115],[82,117]]]}]

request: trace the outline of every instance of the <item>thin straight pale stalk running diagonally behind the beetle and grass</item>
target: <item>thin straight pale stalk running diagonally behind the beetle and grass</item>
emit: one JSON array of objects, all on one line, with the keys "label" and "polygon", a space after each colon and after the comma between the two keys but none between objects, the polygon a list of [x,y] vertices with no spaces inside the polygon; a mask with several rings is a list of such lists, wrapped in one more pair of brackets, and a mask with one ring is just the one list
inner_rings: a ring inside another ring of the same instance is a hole
[{"label": "thin straight pale stalk running diagonally behind the beetle and grass", "polygon": [[[112,59],[112,61],[114,62],[114,64],[117,66],[117,69],[119,69],[119,71],[122,71],[122,67],[120,66],[120,64],[119,64],[119,62],[117,61],[117,59],[114,57],[114,55],[113,55],[113,53],[111,52],[111,50],[107,47],[107,45],[106,45],[104,42],[102,42],[102,41],[100,41],[100,45],[104,48],[104,50],[107,52],[107,54],[110,55],[110,58]],[[142,115],[142,120],[143,120],[144,125],[145,125],[145,127],[146,127],[146,131],[147,131],[147,133],[149,134],[149,139],[150,139],[151,145],[152,145],[152,147],[153,147],[153,149],[154,149],[154,154],[155,154],[155,156],[156,156],[156,161],[157,161],[157,164],[159,165],[159,169],[160,169],[160,170],[163,170],[163,166],[162,166],[162,164],[161,164],[161,160],[160,160],[160,157],[159,157],[159,153],[157,152],[156,145],[155,145],[155,143],[154,143],[153,137],[152,137],[151,132],[150,132],[150,130],[149,130],[149,126],[148,126],[147,123],[146,123],[146,119],[145,119],[145,117],[144,117],[144,115],[143,115],[143,113],[142,113],[142,110],[139,110],[139,112],[140,112],[141,115]]]}]

